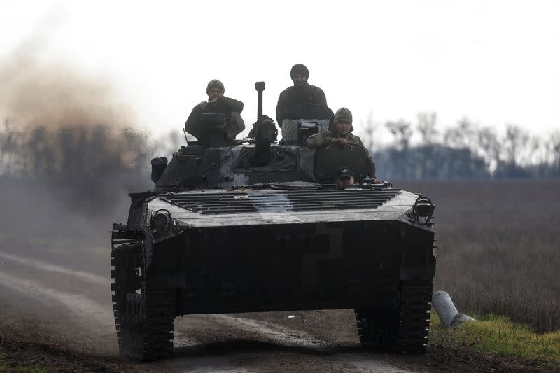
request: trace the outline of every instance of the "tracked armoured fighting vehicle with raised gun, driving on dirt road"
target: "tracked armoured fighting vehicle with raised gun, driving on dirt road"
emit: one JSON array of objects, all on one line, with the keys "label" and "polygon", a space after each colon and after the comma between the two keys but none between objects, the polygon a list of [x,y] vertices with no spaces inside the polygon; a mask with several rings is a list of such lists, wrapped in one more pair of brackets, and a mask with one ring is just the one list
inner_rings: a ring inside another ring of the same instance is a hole
[{"label": "tracked armoured fighting vehicle with raised gun, driving on dirt road", "polygon": [[[169,164],[153,160],[155,188],[132,193],[127,224],[113,225],[121,353],[169,356],[176,316],[309,309],[354,309],[365,347],[426,351],[433,203],[364,179],[359,146],[304,146],[328,126],[328,108],[294,108],[276,143],[262,119],[264,83],[256,88],[249,143],[218,136],[218,146],[190,143]],[[210,127],[223,120],[208,117]],[[341,167],[360,183],[335,188]]]}]

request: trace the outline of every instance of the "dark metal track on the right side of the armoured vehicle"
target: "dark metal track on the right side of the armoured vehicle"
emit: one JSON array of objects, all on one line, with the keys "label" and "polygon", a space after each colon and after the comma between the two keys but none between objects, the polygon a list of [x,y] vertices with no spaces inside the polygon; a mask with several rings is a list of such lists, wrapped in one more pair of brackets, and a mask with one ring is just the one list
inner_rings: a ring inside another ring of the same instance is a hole
[{"label": "dark metal track on the right side of the armoured vehicle", "polygon": [[360,343],[402,353],[424,353],[430,328],[432,281],[405,280],[393,311],[355,309]]}]

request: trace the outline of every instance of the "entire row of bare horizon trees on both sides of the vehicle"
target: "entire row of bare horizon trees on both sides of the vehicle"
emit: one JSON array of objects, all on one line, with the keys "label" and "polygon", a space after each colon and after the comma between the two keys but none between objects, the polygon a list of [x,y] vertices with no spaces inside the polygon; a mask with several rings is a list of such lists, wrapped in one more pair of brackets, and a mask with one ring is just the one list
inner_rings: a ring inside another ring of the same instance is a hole
[{"label": "entire row of bare horizon trees on both sides of the vehicle", "polygon": [[[468,178],[559,178],[560,131],[541,138],[515,125],[500,136],[468,119],[440,131],[435,113],[385,123],[393,143],[377,146],[379,125],[367,120],[364,143],[379,178],[386,180]],[[419,139],[413,143],[412,138]],[[181,132],[151,139],[145,132],[106,125],[15,128],[0,124],[0,177],[41,178],[59,190],[104,195],[116,185],[150,188],[153,156],[169,157],[183,143]]]}]

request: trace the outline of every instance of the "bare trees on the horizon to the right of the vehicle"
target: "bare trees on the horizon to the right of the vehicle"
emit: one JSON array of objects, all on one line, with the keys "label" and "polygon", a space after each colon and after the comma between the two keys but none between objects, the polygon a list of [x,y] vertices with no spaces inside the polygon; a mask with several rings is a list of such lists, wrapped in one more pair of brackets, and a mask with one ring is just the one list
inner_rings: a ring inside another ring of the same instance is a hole
[{"label": "bare trees on the horizon to the right of the vehicle", "polygon": [[[479,127],[463,118],[440,132],[436,120],[435,113],[419,113],[416,126],[405,120],[386,122],[394,141],[382,147],[375,146],[378,128],[367,121],[364,142],[374,157],[379,178],[560,177],[560,131],[542,138],[517,125],[507,125],[500,136],[491,127]],[[412,145],[415,132],[420,141]]]}]

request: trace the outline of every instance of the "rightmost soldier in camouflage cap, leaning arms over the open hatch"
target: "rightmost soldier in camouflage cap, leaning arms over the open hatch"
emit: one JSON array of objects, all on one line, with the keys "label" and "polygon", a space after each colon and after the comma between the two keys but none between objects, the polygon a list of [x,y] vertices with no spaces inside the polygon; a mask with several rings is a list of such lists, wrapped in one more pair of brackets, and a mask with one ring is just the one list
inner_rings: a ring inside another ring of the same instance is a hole
[{"label": "rightmost soldier in camouflage cap, leaning arms over the open hatch", "polygon": [[[369,156],[370,152],[365,148],[362,140],[352,134],[354,127],[352,126],[352,113],[347,108],[339,108],[335,113],[335,116],[331,118],[329,122],[328,129],[323,129],[323,131],[311,135],[307,138],[307,146],[311,149],[318,149],[322,146],[327,146],[330,144],[339,144],[341,146],[348,146],[354,143],[358,146],[364,148],[365,153],[370,164],[370,178],[374,179],[375,176],[375,164],[372,157]],[[375,181],[377,183],[377,180]]]}]

